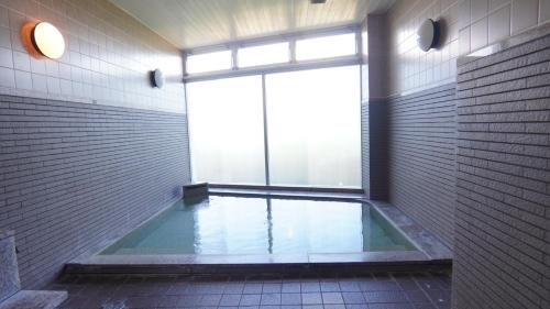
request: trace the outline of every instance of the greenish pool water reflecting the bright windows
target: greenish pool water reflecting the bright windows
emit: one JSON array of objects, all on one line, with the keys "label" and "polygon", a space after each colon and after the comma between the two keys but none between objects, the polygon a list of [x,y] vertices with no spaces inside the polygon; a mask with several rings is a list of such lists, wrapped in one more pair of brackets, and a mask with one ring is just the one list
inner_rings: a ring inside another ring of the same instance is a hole
[{"label": "greenish pool water reflecting the bright windows", "polygon": [[176,202],[105,250],[135,254],[294,254],[414,251],[361,202],[210,196]]}]

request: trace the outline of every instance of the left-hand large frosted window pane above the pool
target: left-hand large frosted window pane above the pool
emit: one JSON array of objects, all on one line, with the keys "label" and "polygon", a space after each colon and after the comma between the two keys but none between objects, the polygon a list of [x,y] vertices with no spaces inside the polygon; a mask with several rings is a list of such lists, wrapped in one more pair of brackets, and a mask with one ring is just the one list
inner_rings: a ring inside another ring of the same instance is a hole
[{"label": "left-hand large frosted window pane above the pool", "polygon": [[265,185],[262,77],[187,85],[193,179]]}]

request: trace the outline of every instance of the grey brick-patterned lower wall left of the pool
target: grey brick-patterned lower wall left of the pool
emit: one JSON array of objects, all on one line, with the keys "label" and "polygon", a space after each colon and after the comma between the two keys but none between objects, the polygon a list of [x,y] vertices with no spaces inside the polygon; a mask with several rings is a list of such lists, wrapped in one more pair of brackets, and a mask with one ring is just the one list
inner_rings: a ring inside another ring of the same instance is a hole
[{"label": "grey brick-patterned lower wall left of the pool", "polygon": [[180,197],[186,115],[0,96],[0,229],[23,287]]}]

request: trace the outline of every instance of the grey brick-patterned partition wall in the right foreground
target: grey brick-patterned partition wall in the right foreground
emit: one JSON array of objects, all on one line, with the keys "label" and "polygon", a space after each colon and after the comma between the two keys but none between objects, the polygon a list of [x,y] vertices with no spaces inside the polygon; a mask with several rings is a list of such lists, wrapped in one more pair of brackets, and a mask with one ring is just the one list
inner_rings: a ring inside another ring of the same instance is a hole
[{"label": "grey brick-patterned partition wall in the right foreground", "polygon": [[550,36],[458,69],[455,308],[550,308]]}]

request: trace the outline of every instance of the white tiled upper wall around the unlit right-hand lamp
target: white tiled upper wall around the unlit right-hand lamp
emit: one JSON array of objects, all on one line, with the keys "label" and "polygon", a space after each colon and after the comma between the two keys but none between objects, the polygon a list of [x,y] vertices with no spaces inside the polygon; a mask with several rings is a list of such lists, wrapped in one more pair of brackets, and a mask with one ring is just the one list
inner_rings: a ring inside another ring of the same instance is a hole
[{"label": "white tiled upper wall around the unlit right-hand lamp", "polygon": [[[407,0],[389,11],[389,95],[455,80],[457,57],[550,22],[550,0]],[[416,46],[416,30],[439,20],[444,41],[428,53]]]}]

